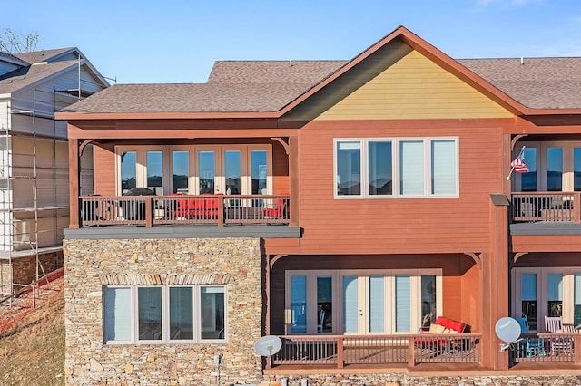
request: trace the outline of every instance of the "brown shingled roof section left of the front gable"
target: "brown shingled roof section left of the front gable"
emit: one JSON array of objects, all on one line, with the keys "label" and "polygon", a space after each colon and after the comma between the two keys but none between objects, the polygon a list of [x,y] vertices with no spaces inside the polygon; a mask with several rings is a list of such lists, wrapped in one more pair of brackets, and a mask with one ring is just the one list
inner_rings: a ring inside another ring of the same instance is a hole
[{"label": "brown shingled roof section left of the front gable", "polygon": [[207,83],[115,84],[64,111],[279,111],[346,61],[217,62]]}]

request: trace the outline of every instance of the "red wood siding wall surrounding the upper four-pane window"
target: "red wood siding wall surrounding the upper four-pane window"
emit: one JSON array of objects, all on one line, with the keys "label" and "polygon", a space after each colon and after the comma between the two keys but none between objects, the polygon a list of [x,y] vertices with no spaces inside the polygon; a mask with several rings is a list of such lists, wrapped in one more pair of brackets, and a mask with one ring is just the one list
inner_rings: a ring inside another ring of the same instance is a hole
[{"label": "red wood siding wall surrounding the upper four-pane window", "polygon": [[[303,253],[450,253],[488,248],[490,193],[503,191],[501,128],[349,130],[332,122],[300,131],[300,240]],[[409,125],[404,125],[409,126]],[[333,139],[458,136],[459,198],[333,198]]]}]

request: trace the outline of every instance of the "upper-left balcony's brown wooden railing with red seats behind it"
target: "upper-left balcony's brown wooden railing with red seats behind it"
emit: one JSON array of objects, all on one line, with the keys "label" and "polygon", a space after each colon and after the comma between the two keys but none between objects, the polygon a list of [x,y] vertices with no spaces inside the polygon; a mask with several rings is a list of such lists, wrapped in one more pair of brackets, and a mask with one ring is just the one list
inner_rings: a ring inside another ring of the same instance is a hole
[{"label": "upper-left balcony's brown wooden railing with red seats behind it", "polygon": [[290,222],[289,196],[83,196],[81,226],[243,225]]}]

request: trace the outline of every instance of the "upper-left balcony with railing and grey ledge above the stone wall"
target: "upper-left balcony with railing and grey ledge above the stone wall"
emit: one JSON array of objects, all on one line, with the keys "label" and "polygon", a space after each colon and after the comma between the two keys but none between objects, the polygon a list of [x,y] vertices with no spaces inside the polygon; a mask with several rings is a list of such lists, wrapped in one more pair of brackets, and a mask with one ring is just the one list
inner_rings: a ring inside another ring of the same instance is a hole
[{"label": "upper-left balcony with railing and grey ledge above the stone wall", "polygon": [[92,195],[78,202],[69,238],[300,237],[288,195]]}]

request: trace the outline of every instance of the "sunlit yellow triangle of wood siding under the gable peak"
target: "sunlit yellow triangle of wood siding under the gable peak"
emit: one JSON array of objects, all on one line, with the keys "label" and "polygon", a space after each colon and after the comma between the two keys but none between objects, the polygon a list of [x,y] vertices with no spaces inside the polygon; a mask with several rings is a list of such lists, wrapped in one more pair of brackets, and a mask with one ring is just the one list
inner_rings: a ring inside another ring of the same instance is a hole
[{"label": "sunlit yellow triangle of wood siding under the gable peak", "polygon": [[512,114],[411,51],[317,120],[501,118]]}]

